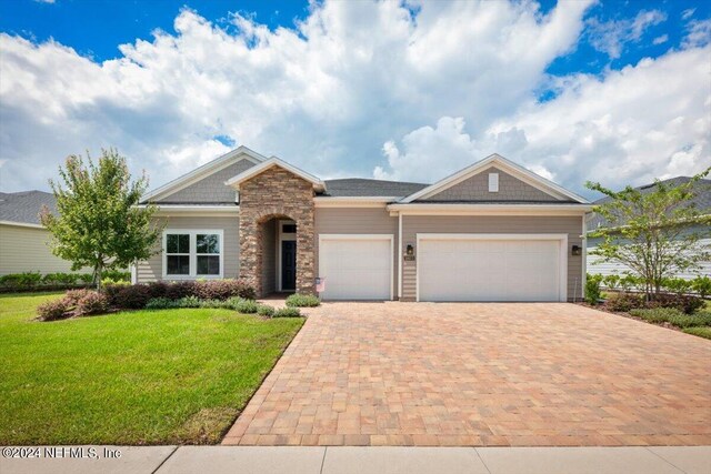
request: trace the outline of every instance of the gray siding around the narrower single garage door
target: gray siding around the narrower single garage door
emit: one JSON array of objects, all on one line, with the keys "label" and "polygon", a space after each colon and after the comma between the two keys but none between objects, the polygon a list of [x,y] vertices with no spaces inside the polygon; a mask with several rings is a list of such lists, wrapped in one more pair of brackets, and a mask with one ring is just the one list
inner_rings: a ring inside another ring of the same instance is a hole
[{"label": "gray siding around the narrower single garage door", "polygon": [[[319,234],[390,234],[394,242],[392,273],[398,288],[398,218],[385,208],[317,208],[316,269],[319,269]],[[328,284],[328,283],[327,283]],[[397,294],[397,291],[395,291]]]}]

